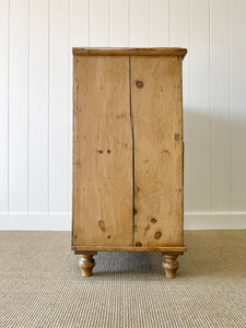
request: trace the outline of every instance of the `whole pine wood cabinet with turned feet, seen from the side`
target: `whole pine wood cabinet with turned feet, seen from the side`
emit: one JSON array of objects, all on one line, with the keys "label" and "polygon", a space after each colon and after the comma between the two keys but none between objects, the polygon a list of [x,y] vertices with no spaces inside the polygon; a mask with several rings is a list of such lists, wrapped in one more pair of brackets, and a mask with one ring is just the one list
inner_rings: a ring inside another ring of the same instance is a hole
[{"label": "whole pine wood cabinet with turned feet, seen from the side", "polygon": [[99,250],[184,247],[181,48],[73,48],[72,249],[82,274]]}]

